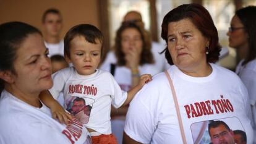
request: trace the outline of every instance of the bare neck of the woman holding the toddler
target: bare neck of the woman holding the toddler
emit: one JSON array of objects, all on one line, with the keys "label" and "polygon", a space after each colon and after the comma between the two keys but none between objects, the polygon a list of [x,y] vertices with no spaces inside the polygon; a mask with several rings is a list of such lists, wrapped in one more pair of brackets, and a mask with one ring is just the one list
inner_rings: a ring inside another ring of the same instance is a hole
[{"label": "bare neck of the woman holding the toddler", "polygon": [[42,104],[39,99],[39,93],[28,93],[26,91],[19,90],[19,88],[12,86],[6,86],[5,90],[11,93],[13,96],[19,100],[30,104],[36,108],[41,108]]}]

